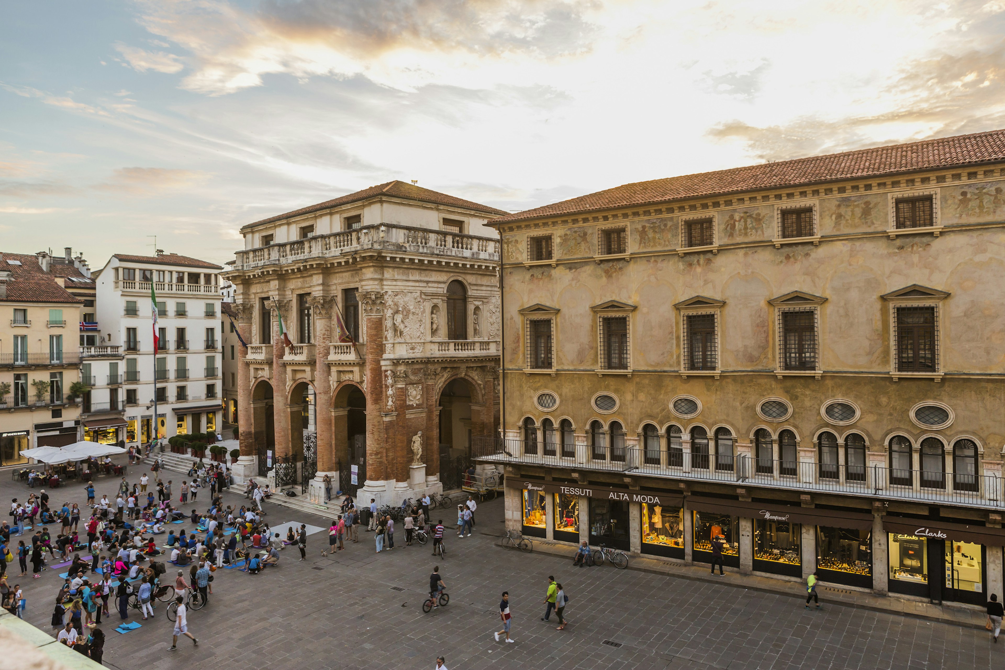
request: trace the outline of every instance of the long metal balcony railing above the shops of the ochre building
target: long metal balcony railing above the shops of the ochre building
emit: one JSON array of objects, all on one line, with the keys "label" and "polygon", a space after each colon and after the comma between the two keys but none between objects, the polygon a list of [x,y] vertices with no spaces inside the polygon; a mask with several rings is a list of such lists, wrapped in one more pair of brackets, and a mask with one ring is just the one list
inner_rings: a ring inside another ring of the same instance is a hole
[{"label": "long metal balcony railing above the shops of the ochre building", "polygon": [[[557,436],[558,438],[558,436]],[[1005,479],[977,475],[898,470],[881,465],[759,459],[682,449],[599,447],[560,441],[525,442],[472,438],[472,455],[484,462],[567,467],[631,473],[681,481],[743,482],[795,491],[847,493],[896,500],[1005,508]]]}]

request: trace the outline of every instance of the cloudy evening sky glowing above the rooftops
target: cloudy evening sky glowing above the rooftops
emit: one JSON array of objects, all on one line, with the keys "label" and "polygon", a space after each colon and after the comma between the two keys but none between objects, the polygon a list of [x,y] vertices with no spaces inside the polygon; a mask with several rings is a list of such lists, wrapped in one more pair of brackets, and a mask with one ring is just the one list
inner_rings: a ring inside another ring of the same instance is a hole
[{"label": "cloudy evening sky glowing above the rooftops", "polygon": [[0,0],[0,249],[223,263],[393,179],[519,211],[999,129],[1003,37],[1005,0]]}]

